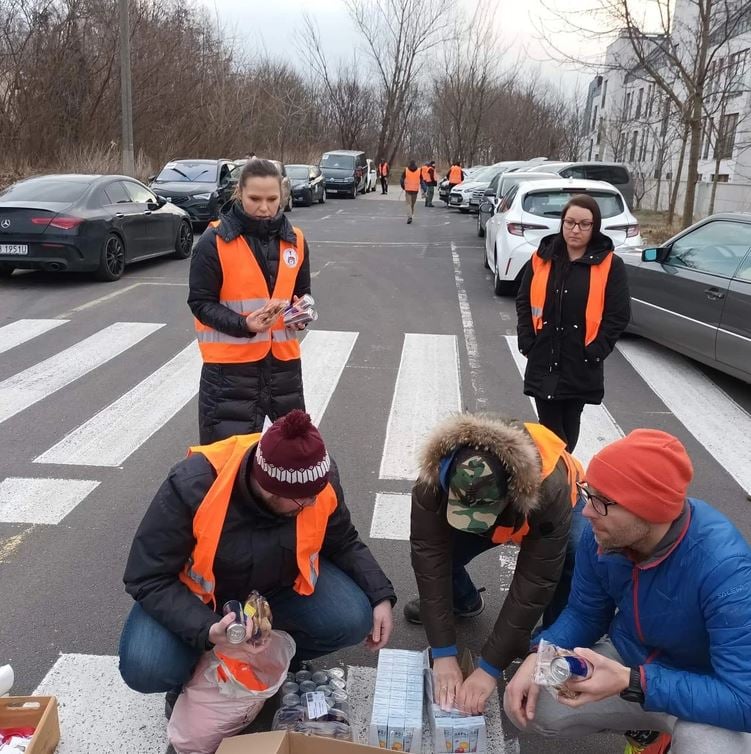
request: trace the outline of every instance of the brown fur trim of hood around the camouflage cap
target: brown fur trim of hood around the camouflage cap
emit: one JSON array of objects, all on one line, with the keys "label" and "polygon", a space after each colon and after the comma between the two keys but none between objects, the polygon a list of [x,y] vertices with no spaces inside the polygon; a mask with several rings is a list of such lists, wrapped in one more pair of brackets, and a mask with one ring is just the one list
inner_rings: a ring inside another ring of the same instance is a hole
[{"label": "brown fur trim of hood around the camouflage cap", "polygon": [[441,422],[418,455],[418,481],[437,487],[441,459],[470,446],[498,458],[509,472],[512,505],[525,516],[539,504],[542,467],[537,446],[523,425],[489,414],[458,414]]}]

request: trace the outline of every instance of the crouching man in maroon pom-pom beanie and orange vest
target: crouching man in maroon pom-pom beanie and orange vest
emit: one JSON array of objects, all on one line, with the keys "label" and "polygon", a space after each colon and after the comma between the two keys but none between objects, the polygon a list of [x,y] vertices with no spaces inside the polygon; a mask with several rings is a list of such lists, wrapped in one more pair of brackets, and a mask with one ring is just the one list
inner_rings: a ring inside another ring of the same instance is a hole
[{"label": "crouching man in maroon pom-pom beanie and orange vest", "polygon": [[263,651],[231,644],[234,616],[222,613],[254,589],[269,601],[273,628],[294,638],[295,663],[363,640],[380,649],[393,628],[394,588],[352,524],[321,435],[299,410],[263,436],[191,448],[146,511],[124,581],[136,604],[120,673],[141,693],[168,692],[168,714],[207,650],[248,662]]}]

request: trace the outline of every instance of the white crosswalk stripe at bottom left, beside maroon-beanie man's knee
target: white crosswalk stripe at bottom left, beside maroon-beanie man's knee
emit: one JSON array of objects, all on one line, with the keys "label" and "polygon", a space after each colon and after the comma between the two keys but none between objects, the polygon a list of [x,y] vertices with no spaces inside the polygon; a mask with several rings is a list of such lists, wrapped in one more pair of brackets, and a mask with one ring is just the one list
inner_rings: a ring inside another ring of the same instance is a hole
[{"label": "white crosswalk stripe at bottom left, beside maroon-beanie man's knee", "polygon": [[139,694],[123,682],[118,658],[62,654],[34,691],[56,696],[57,754],[164,754],[164,694]]}]

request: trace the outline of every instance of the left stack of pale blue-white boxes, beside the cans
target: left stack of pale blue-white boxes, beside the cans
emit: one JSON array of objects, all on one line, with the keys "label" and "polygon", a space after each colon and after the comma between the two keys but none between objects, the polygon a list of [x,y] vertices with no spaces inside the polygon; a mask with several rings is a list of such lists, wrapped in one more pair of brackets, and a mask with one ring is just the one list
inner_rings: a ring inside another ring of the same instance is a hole
[{"label": "left stack of pale blue-white boxes, beside the cans", "polygon": [[382,649],[368,743],[393,751],[422,751],[422,702],[422,652]]}]

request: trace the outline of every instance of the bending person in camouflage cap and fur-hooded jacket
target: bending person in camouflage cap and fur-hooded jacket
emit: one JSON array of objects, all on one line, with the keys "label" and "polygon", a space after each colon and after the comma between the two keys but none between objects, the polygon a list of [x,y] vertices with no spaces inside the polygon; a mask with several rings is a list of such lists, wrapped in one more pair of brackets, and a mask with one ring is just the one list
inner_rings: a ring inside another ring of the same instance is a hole
[{"label": "bending person in camouflage cap and fur-hooded jacket", "polygon": [[[482,711],[503,670],[526,655],[540,616],[549,625],[565,607],[584,525],[581,478],[579,462],[541,424],[462,414],[428,439],[410,527],[420,597],[404,615],[425,625],[444,709]],[[466,566],[505,543],[520,548],[516,569],[479,668],[463,681],[454,621],[485,607]]]}]

